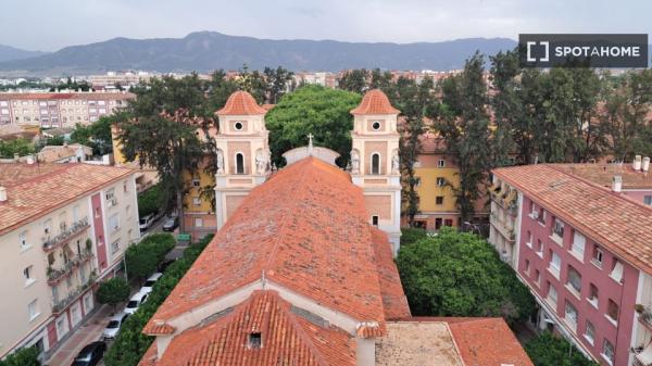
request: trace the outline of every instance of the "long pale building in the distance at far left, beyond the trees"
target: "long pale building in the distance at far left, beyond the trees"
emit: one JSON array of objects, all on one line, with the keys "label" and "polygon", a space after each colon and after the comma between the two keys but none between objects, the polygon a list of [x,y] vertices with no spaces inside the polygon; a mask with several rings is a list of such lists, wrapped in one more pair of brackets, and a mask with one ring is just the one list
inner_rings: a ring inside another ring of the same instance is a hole
[{"label": "long pale building in the distance at far left, beyond the trees", "polygon": [[74,127],[125,108],[135,94],[128,92],[1,92],[1,125]]}]

